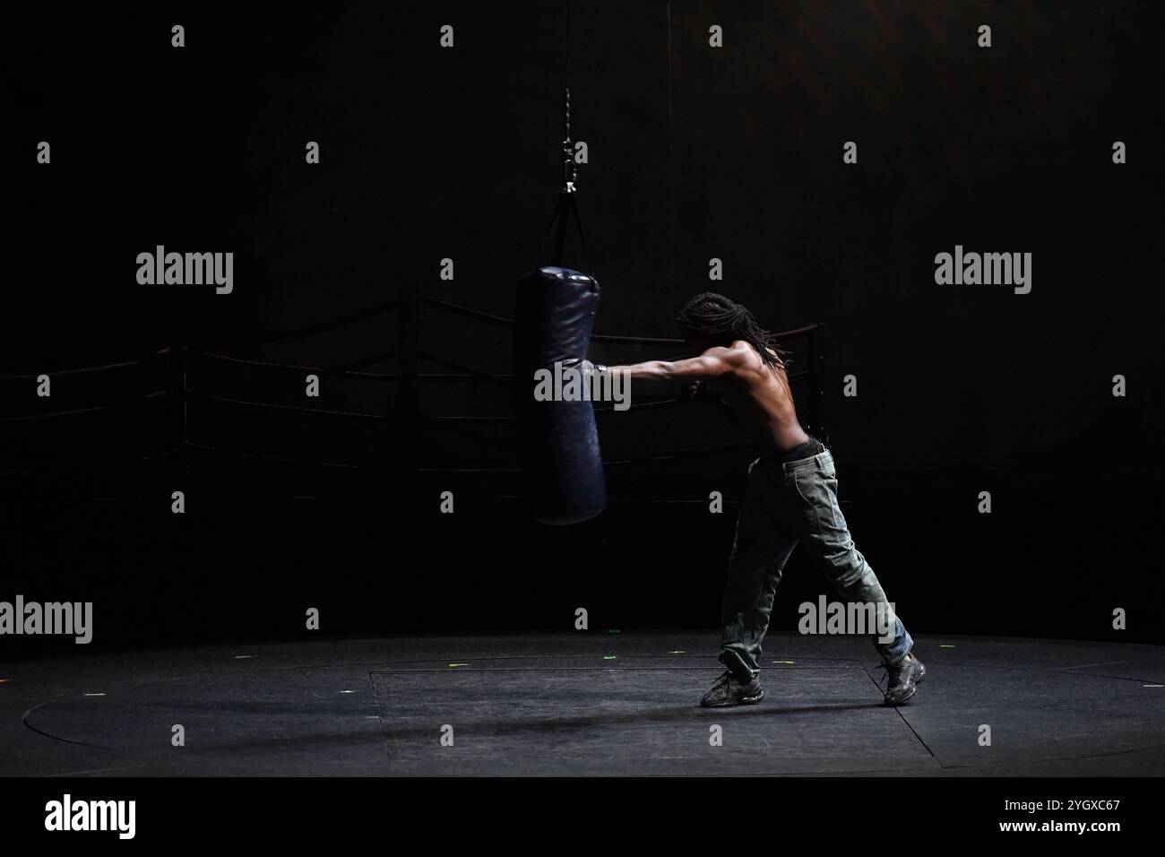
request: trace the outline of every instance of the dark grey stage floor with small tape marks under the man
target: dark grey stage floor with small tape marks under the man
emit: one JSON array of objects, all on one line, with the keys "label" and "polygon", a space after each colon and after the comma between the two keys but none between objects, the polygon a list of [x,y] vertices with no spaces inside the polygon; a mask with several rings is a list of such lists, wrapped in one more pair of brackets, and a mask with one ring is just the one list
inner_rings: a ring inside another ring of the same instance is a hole
[{"label": "dark grey stage floor with small tape marks under the man", "polygon": [[[706,710],[716,639],[78,646],[0,666],[0,774],[1165,772],[1162,646],[924,637],[926,680],[894,710],[863,640],[774,635],[765,701]],[[185,746],[171,743],[176,724]]]}]

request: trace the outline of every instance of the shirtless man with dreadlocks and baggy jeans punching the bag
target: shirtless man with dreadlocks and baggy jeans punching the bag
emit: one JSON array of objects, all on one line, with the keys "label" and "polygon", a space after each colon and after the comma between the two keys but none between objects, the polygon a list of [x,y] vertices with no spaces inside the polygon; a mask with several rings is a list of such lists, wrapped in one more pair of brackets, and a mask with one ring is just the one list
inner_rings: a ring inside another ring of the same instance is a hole
[{"label": "shirtless man with dreadlocks and baggy jeans punching the bag", "polygon": [[[772,597],[793,547],[804,545],[847,602],[875,605],[894,618],[891,641],[874,634],[888,672],[885,704],[915,695],[925,674],[913,640],[894,617],[866,557],[854,547],[838,505],[833,456],[797,421],[782,351],[753,315],[713,293],[693,297],[679,315],[684,340],[700,352],[686,360],[613,366],[631,379],[692,379],[719,393],[748,430],[761,456],[749,465],[736,539],[728,561],[720,661],[725,673],[701,704],[754,704],[761,689],[761,642]],[[880,623],[884,626],[884,621]]]}]

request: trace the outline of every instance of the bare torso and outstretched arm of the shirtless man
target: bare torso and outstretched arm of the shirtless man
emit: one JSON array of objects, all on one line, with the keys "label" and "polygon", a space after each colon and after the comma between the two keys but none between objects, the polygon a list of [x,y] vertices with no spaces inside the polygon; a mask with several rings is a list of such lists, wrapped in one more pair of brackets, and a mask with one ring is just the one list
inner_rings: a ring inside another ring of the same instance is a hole
[{"label": "bare torso and outstretched arm of the shirtless man", "polygon": [[649,360],[612,366],[631,379],[702,381],[723,398],[761,455],[782,455],[809,441],[797,421],[789,375],[769,366],[743,339],[730,346],[714,345],[686,360]]}]

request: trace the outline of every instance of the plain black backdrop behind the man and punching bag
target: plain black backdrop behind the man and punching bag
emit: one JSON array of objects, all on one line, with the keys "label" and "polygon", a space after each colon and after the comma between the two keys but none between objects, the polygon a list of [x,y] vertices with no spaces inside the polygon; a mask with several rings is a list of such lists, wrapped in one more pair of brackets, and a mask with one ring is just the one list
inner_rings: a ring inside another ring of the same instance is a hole
[{"label": "plain black backdrop behind the man and punching bag", "polygon": [[[580,606],[592,631],[715,627],[748,451],[612,465],[600,518],[536,525],[508,386],[478,377],[509,371],[508,328],[418,302],[513,316],[569,78],[598,332],[676,336],[709,286],[776,330],[824,323],[826,407],[803,419],[913,633],[1160,641],[1160,5],[572,7],[569,70],[557,2],[9,19],[0,371],[146,359],[55,377],[51,399],[0,380],[0,599],[93,600],[98,645],[298,634],[311,606],[324,633],[570,631]],[[158,244],[233,252],[234,293],[139,286]],[[1031,252],[1031,294],[937,286],[956,244]],[[305,400],[302,371],[183,352],[178,476],[175,396],[140,396],[179,346],[391,377],[325,375]],[[696,406],[600,419],[609,461],[735,431]],[[821,591],[795,554],[774,625]]]}]

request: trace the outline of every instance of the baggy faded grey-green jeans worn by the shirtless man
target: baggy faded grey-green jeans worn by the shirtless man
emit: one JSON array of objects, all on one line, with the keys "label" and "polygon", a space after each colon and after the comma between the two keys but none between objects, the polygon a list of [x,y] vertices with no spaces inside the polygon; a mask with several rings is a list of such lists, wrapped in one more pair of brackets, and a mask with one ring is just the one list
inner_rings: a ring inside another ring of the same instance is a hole
[{"label": "baggy faded grey-green jeans worn by the shirtless man", "polygon": [[[748,468],[721,611],[720,660],[737,677],[746,677],[746,670],[749,677],[761,672],[761,644],[769,628],[772,597],[798,542],[842,600],[890,610],[874,569],[854,547],[846,527],[829,450],[795,462],[757,458]],[[891,642],[871,634],[875,648],[888,663],[905,658],[913,646],[897,616],[892,628]]]}]

